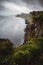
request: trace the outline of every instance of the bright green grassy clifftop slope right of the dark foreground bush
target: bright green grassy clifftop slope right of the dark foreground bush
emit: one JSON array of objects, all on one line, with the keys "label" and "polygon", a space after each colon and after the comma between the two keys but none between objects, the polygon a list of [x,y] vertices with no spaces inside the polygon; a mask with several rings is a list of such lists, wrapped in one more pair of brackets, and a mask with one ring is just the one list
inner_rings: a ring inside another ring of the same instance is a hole
[{"label": "bright green grassy clifftop slope right of the dark foreground bush", "polygon": [[33,38],[16,48],[14,58],[18,65],[43,65],[43,38]]}]

